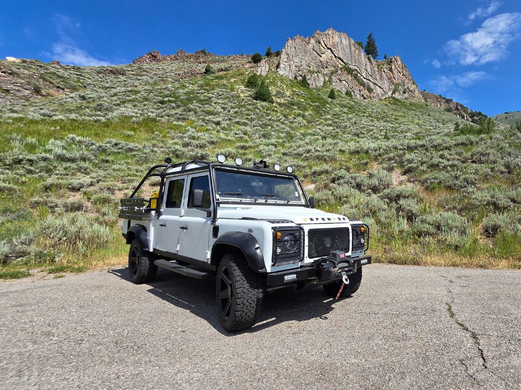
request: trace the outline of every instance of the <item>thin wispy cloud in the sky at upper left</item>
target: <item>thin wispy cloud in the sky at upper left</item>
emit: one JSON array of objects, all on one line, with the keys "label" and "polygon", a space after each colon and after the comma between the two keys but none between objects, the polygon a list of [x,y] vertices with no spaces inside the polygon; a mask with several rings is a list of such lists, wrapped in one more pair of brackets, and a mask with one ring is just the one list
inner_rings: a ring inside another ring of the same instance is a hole
[{"label": "thin wispy cloud in the sky at upper left", "polygon": [[81,35],[79,30],[81,27],[80,22],[72,20],[67,15],[61,14],[56,14],[53,21],[60,41],[53,43],[50,57],[63,63],[78,66],[110,65],[109,62],[97,59],[87,53],[86,50],[78,47],[76,41],[71,37],[71,35]]}]

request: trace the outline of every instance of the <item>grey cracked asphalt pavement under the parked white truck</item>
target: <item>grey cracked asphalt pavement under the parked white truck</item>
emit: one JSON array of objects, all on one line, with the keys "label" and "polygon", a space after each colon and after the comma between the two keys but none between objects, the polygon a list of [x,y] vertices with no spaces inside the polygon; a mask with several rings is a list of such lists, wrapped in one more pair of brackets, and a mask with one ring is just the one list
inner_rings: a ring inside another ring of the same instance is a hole
[{"label": "grey cracked asphalt pavement under the parked white truck", "polygon": [[369,265],[334,301],[269,294],[221,329],[215,283],[127,270],[0,283],[0,388],[521,388],[521,271]]}]

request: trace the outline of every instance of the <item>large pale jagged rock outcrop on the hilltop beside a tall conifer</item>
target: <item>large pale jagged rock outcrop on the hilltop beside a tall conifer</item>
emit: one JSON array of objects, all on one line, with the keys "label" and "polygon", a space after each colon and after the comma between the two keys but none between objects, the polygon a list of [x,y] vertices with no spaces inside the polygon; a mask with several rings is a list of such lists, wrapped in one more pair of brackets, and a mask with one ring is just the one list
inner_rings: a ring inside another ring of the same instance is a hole
[{"label": "large pale jagged rock outcrop on the hilltop beside a tall conifer", "polygon": [[421,99],[411,73],[400,57],[377,61],[348,35],[333,29],[311,37],[288,39],[277,72],[291,79],[304,75],[312,87],[329,82],[343,93],[367,100],[387,97]]}]

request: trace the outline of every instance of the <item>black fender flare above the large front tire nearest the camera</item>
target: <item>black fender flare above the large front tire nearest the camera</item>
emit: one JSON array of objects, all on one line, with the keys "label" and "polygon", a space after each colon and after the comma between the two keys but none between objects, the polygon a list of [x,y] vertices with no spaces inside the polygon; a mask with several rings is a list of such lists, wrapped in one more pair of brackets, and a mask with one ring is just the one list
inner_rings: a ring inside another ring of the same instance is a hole
[{"label": "black fender flare above the large front tire nearest the camera", "polygon": [[253,235],[242,231],[228,231],[215,240],[212,245],[210,264],[216,266],[222,255],[229,251],[230,246],[242,252],[248,265],[255,272],[266,272],[266,265],[264,264],[264,255],[262,253],[261,245],[259,245],[257,239]]}]

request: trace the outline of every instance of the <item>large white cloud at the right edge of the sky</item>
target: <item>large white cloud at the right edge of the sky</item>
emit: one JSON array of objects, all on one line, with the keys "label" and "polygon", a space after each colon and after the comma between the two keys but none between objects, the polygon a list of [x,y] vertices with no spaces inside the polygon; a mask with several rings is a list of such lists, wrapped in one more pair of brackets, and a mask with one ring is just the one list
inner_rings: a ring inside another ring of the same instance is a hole
[{"label": "large white cloud at the right edge of the sky", "polygon": [[499,61],[508,45],[521,35],[521,14],[500,14],[489,18],[472,33],[445,44],[446,53],[462,65]]}]

